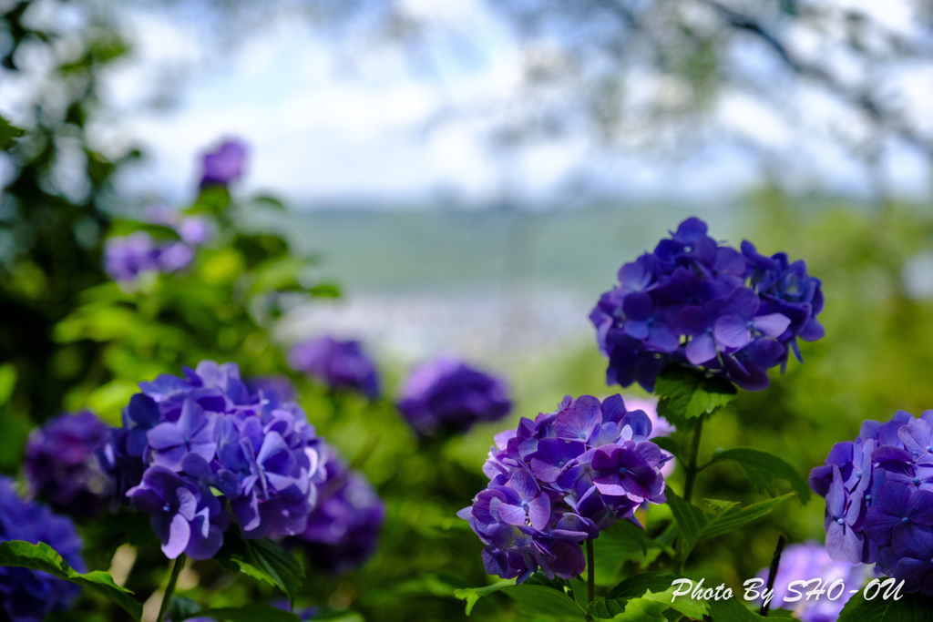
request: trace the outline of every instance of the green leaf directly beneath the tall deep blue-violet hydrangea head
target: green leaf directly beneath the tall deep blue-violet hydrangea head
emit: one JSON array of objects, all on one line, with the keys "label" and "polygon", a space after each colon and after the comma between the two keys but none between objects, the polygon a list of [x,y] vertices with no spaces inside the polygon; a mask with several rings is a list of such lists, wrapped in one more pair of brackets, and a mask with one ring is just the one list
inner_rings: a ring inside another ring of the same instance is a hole
[{"label": "green leaf directly beneath the tall deep blue-violet hydrangea head", "polygon": [[671,367],[662,373],[654,385],[654,393],[661,398],[658,414],[675,425],[710,414],[738,394],[730,381],[707,378],[702,371],[684,367]]}]

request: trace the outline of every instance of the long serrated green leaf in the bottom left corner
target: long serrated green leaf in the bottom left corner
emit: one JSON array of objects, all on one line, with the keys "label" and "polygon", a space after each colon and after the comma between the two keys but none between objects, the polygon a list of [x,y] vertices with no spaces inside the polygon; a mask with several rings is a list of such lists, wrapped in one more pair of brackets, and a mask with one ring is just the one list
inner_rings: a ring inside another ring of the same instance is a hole
[{"label": "long serrated green leaf in the bottom left corner", "polygon": [[37,545],[21,540],[0,542],[0,566],[29,568],[52,574],[65,581],[77,583],[114,602],[134,620],[139,620],[143,615],[143,605],[132,599],[132,591],[119,587],[109,574],[103,571],[80,574],[66,564],[62,556],[44,542]]}]

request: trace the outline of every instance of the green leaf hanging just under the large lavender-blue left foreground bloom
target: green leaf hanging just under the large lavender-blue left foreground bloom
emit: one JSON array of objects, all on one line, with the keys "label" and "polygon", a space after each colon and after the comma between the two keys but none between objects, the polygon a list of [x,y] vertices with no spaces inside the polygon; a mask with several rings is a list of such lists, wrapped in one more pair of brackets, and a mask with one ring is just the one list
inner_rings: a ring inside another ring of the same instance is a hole
[{"label": "green leaf hanging just under the large lavender-blue left foreground bloom", "polygon": [[278,587],[291,601],[295,600],[304,578],[304,568],[282,546],[269,538],[245,540],[237,530],[225,534],[224,546],[215,559],[226,570],[240,571]]}]

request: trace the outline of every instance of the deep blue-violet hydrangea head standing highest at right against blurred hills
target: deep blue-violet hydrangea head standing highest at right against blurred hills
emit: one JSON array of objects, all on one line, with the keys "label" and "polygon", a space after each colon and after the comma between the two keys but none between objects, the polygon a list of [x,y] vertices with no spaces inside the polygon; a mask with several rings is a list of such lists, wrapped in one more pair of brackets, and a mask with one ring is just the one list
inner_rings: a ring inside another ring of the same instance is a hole
[{"label": "deep blue-violet hydrangea head standing highest at right against blurred hills", "polygon": [[820,282],[802,260],[759,255],[750,242],[741,253],[720,246],[698,218],[622,266],[619,283],[590,313],[609,384],[653,391],[664,367],[679,364],[759,391],[789,351],[801,359],[797,338],[823,337]]}]

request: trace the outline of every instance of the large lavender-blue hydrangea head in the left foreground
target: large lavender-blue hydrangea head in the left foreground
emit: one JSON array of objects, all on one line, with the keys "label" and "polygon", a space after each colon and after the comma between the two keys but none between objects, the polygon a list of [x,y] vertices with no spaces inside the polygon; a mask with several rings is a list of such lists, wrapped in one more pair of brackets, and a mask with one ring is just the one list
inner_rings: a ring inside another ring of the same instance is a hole
[{"label": "large lavender-blue hydrangea head in the left foreground", "polygon": [[149,514],[162,552],[213,557],[229,527],[246,538],[304,532],[323,479],[304,412],[250,393],[236,364],[202,361],[184,378],[140,382],[105,453],[130,504]]}]

